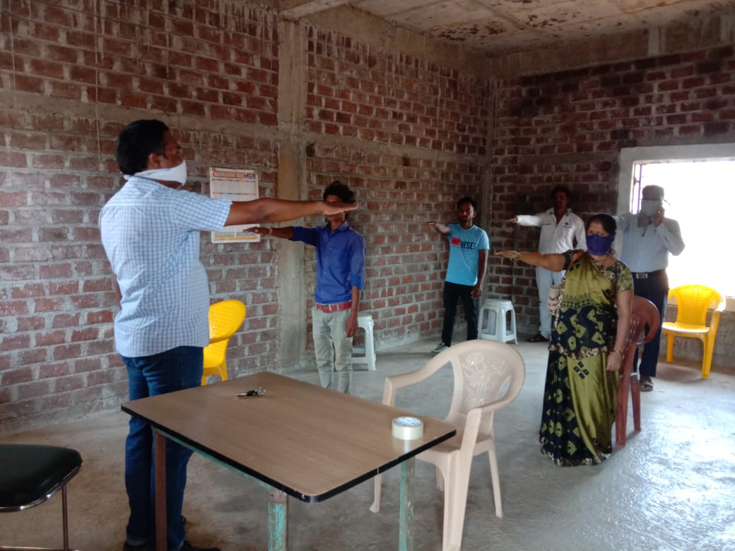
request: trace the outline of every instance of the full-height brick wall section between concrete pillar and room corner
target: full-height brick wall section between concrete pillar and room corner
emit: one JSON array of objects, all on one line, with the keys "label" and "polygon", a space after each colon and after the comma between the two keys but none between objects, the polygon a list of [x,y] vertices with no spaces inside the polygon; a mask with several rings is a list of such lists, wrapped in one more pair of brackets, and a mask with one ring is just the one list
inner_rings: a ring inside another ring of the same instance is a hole
[{"label": "full-height brick wall section between concrete pillar and room corner", "polygon": [[489,82],[317,27],[306,36],[312,197],[341,179],[364,206],[350,223],[367,244],[362,307],[378,341],[437,334],[448,248],[425,223],[453,221],[464,195],[481,202]]}]

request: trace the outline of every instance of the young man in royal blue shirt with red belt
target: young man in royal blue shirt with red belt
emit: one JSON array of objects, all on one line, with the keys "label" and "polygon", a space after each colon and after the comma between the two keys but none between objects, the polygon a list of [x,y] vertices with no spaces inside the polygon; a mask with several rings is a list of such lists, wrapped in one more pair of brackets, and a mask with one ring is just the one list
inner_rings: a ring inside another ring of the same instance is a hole
[{"label": "young man in royal blue shirt with red belt", "polygon": [[[354,203],[355,194],[340,181],[323,192],[326,203]],[[317,251],[317,284],[312,336],[321,386],[345,394],[352,382],[352,337],[357,330],[360,291],[365,287],[365,240],[340,212],[317,228],[251,228],[259,235],[312,245]],[[335,380],[336,379],[336,380]]]}]

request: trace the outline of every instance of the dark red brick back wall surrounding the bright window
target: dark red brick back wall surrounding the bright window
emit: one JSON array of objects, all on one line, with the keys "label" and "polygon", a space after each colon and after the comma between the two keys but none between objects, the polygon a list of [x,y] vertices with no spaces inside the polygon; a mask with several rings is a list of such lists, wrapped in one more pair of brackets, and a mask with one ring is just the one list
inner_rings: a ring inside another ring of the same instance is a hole
[{"label": "dark red brick back wall surrounding the bright window", "polygon": [[[555,184],[571,188],[583,219],[614,213],[620,148],[735,142],[735,50],[506,79],[498,83],[497,103],[491,240],[499,248],[535,250],[537,229],[503,220],[547,209]],[[536,330],[533,268],[495,262],[490,290],[513,298],[521,329]]]}]

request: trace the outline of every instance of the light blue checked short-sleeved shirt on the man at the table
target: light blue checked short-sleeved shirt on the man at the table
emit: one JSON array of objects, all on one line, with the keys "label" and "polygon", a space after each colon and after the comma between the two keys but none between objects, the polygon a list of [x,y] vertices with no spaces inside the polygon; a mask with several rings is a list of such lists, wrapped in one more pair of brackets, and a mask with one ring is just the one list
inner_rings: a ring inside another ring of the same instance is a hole
[{"label": "light blue checked short-sleeved shirt on the man at the table", "polygon": [[115,316],[121,356],[209,344],[209,284],[199,261],[199,232],[220,230],[231,205],[136,176],[107,201],[99,227],[122,294]]}]

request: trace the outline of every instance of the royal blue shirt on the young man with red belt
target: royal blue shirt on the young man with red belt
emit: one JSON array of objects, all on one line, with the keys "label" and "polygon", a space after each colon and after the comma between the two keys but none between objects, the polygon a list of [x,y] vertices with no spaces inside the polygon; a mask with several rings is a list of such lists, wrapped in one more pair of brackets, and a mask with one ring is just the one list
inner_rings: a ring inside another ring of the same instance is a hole
[{"label": "royal blue shirt on the young man with red belt", "polygon": [[365,287],[365,240],[345,221],[334,231],[329,223],[318,228],[293,228],[291,241],[317,249],[315,300],[340,304],[352,299],[352,287]]}]

